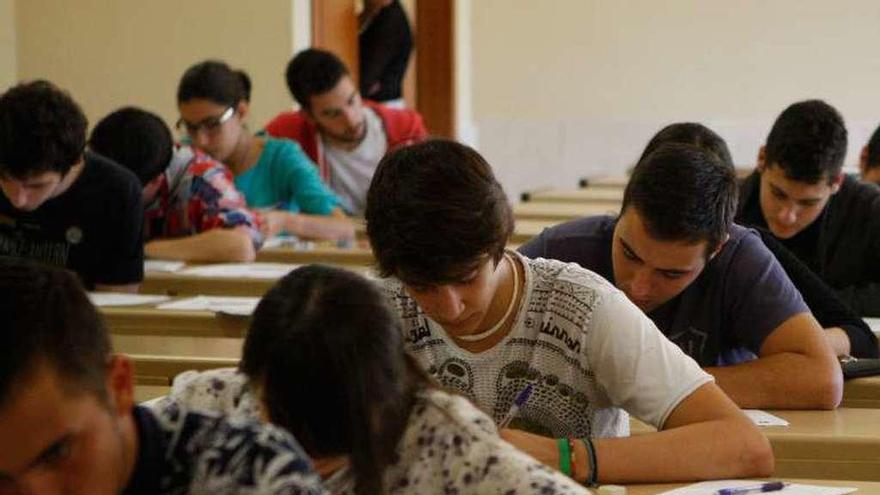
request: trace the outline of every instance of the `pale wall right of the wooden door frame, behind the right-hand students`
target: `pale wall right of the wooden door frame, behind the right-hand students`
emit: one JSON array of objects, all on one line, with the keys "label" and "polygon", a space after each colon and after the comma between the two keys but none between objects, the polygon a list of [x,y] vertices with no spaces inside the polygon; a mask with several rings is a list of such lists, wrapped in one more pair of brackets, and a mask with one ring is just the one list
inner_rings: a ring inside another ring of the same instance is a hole
[{"label": "pale wall right of the wooden door frame, behind the right-hand students", "polygon": [[460,4],[471,10],[479,148],[512,197],[620,173],[674,121],[714,128],[741,165],[799,99],[841,111],[848,164],[880,122],[875,0]]}]

